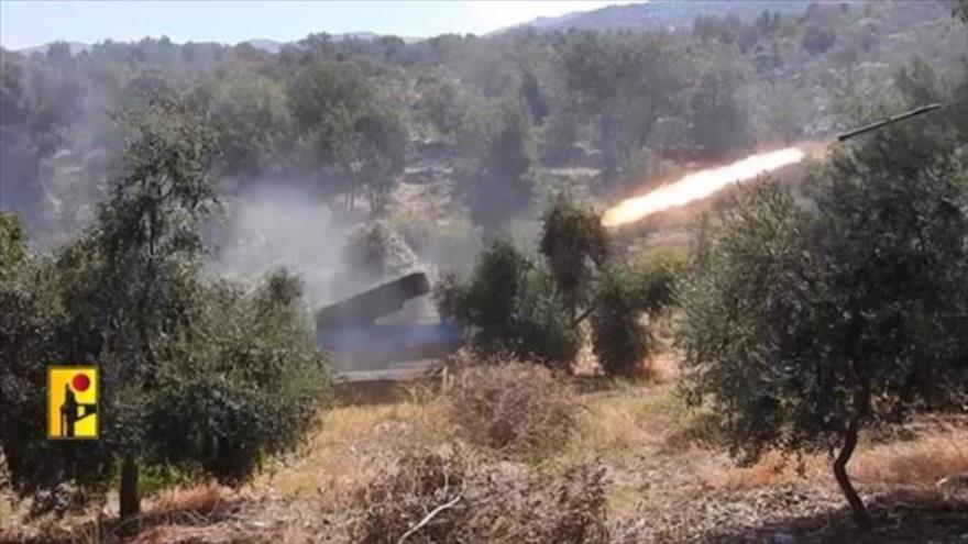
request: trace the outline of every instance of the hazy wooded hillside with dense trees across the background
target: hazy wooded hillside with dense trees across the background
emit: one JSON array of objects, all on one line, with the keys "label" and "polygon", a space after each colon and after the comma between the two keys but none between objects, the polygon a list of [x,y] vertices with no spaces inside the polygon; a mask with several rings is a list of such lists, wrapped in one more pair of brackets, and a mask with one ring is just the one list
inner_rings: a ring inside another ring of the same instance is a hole
[{"label": "hazy wooded hillside with dense trees across the background", "polygon": [[437,158],[490,229],[528,209],[542,164],[600,167],[604,188],[620,189],[667,160],[847,126],[914,57],[932,71],[919,78],[950,80],[961,44],[949,14],[944,3],[817,4],[650,33],[314,34],[277,54],[165,37],[2,51],[3,207],[52,233],[88,222],[122,148],[111,115],[161,97],[207,119],[230,189],[311,180],[345,208],[364,198],[382,213],[405,165]]}]

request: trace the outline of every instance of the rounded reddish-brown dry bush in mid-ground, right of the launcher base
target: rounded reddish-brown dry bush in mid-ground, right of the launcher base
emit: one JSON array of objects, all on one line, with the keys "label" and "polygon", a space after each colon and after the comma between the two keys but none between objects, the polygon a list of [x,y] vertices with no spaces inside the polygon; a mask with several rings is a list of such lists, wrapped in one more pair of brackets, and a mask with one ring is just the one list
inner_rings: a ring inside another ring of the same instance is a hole
[{"label": "rounded reddish-brown dry bush in mid-ground, right of the launcher base", "polygon": [[513,454],[564,444],[579,407],[550,370],[525,363],[466,368],[449,400],[450,420],[464,440]]}]

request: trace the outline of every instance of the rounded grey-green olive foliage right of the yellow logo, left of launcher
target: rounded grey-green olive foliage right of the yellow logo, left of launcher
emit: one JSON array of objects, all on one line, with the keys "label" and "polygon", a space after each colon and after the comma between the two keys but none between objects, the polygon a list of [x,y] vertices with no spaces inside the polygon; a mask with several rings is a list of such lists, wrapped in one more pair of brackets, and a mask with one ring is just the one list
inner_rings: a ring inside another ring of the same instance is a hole
[{"label": "rounded grey-green olive foliage right of the yellow logo, left of launcher", "polygon": [[285,270],[254,291],[228,282],[201,289],[190,334],[156,370],[155,455],[238,481],[299,442],[329,386],[301,295]]}]

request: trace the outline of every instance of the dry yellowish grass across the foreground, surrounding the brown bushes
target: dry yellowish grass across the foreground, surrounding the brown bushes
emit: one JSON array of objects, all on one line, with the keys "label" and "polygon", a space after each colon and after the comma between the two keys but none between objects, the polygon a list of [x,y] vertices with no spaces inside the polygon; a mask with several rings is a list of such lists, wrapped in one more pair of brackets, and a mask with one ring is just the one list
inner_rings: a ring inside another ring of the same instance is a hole
[{"label": "dry yellowish grass across the foreground, surrounding the brown bushes", "polygon": [[[475,492],[515,497],[495,498],[488,502],[491,510],[473,523],[462,513],[454,523],[465,531],[477,531],[475,523],[493,520],[495,526],[513,522],[526,532],[520,523],[528,517],[517,515],[516,510],[537,508],[548,509],[541,526],[564,526],[559,524],[564,518],[552,515],[556,501],[587,488],[588,481],[601,484],[602,495],[593,486],[594,493],[586,497],[588,501],[575,502],[575,511],[607,519],[613,537],[631,535],[622,542],[690,542],[726,525],[741,529],[788,518],[824,520],[845,507],[826,455],[798,459],[769,453],[750,467],[738,467],[715,440],[716,414],[686,410],[675,396],[674,384],[624,384],[576,396],[573,403],[580,408],[574,429],[561,446],[539,451],[534,458],[509,457],[512,462],[499,460],[508,458],[501,452],[495,455],[491,448],[463,442],[458,425],[450,421],[452,404],[447,398],[419,390],[404,398],[394,404],[346,406],[320,413],[306,445],[276,462],[248,491],[202,484],[147,498],[144,512],[151,521],[139,542],[354,542],[351,528],[359,526],[366,508],[381,501],[386,504],[383,499],[393,495],[361,506],[361,493],[365,497],[364,490],[380,481],[391,485],[394,480],[387,478],[407,455],[440,446],[466,453],[465,477],[474,482]],[[911,490],[941,501],[935,482],[968,471],[968,420],[938,424],[919,419],[905,425],[903,433],[887,436],[875,441],[875,433],[868,433],[848,465],[866,500]],[[602,467],[602,478],[591,478],[591,473],[578,477],[572,470],[592,465]],[[490,488],[487,478],[496,478],[504,487]],[[438,506],[443,496],[436,493],[417,493],[416,502],[406,502],[413,515],[405,526],[426,515],[414,512]],[[0,508],[4,517],[11,512],[10,507]],[[97,542],[99,518],[103,524],[112,517],[92,508],[82,518],[4,526],[0,541]]]}]

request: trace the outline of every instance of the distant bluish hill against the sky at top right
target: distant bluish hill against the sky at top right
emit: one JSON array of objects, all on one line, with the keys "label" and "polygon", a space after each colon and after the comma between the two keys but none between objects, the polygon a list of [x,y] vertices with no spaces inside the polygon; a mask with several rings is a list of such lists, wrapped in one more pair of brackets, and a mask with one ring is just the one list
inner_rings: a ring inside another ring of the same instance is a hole
[{"label": "distant bluish hill against the sky at top right", "polygon": [[568,13],[557,18],[538,18],[527,23],[502,29],[494,34],[517,29],[539,31],[575,30],[653,30],[690,26],[700,15],[735,15],[754,19],[763,11],[803,13],[810,0],[719,0],[719,1],[652,1],[626,5],[608,5],[593,11]]}]

